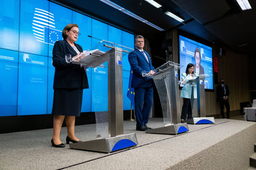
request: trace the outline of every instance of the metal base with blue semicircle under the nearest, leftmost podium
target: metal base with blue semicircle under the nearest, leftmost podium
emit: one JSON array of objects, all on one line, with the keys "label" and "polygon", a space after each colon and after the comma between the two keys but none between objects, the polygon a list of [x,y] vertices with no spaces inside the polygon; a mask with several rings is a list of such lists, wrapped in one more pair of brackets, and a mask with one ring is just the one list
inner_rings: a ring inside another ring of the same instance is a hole
[{"label": "metal base with blue semicircle under the nearest, leftmost podium", "polygon": [[81,143],[70,143],[71,149],[89,150],[95,152],[115,152],[131,146],[138,145],[136,134],[122,134],[111,138],[95,139],[92,141],[84,141]]}]

